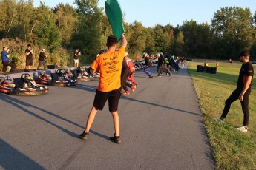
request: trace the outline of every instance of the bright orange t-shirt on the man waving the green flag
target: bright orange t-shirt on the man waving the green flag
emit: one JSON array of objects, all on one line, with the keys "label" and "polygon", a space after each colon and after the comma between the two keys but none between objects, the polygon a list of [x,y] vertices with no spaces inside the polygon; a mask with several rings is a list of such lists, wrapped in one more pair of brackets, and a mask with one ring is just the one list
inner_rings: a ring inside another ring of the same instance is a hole
[{"label": "bright orange t-shirt on the man waving the green flag", "polygon": [[113,53],[106,52],[99,55],[91,64],[95,71],[100,70],[98,90],[110,92],[121,87],[122,61],[125,56],[125,48],[121,47]]}]

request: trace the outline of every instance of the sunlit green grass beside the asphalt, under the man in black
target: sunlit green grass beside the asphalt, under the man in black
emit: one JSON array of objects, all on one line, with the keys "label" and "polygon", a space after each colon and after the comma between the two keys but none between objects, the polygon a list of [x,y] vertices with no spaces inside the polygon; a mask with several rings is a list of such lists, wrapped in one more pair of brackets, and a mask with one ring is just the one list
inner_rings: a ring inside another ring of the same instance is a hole
[{"label": "sunlit green grass beside the asphalt, under the man in black", "polygon": [[[215,67],[215,62],[207,62]],[[241,63],[220,62],[216,75],[197,72],[197,65],[203,61],[188,62],[188,72],[203,112],[206,130],[214,153],[217,169],[256,169],[256,81],[253,78],[252,93],[249,96],[249,130],[238,132],[243,125],[240,101],[232,103],[225,123],[214,121],[219,117],[229,95],[236,88]]]}]

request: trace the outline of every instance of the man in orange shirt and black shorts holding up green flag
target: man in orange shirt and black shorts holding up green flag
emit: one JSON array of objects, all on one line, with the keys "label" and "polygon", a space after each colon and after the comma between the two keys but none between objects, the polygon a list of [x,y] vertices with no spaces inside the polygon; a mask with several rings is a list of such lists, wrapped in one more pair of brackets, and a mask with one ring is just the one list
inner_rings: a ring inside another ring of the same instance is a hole
[{"label": "man in orange shirt and black shorts holding up green flag", "polygon": [[108,100],[109,111],[112,113],[114,120],[115,133],[110,140],[114,143],[121,143],[119,137],[119,115],[117,113],[120,99],[122,60],[125,56],[127,41],[125,35],[122,35],[122,44],[119,50],[117,47],[117,38],[114,35],[108,37],[108,52],[99,55],[91,64],[92,72],[100,71],[99,86],[96,89],[96,95],[93,107],[88,115],[85,131],[79,135],[80,138],[88,140],[89,131],[98,110],[102,110]]}]

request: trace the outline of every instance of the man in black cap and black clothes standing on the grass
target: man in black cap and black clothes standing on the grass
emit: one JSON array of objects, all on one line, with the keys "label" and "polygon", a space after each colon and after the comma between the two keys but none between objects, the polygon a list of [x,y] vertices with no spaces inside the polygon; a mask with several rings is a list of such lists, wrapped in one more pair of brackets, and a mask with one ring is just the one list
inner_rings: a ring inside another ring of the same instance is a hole
[{"label": "man in black cap and black clothes standing on the grass", "polygon": [[243,64],[239,72],[237,89],[235,89],[234,92],[232,92],[232,95],[226,100],[223,114],[220,118],[214,118],[214,120],[223,122],[226,115],[228,115],[231,104],[239,99],[243,110],[243,126],[240,126],[237,130],[247,132],[247,126],[249,124],[249,94],[251,93],[254,70],[252,64],[249,63],[249,52],[242,51],[239,56],[239,60],[240,62],[243,62]]}]

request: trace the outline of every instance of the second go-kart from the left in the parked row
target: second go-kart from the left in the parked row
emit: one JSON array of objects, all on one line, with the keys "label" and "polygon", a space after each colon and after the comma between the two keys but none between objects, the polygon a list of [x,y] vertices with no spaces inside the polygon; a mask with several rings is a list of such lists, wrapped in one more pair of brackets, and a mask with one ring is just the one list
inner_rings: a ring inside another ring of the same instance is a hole
[{"label": "second go-kart from the left in the parked row", "polygon": [[35,81],[37,84],[47,84],[50,86],[75,86],[77,84],[73,75],[65,69],[58,69],[56,73],[51,73],[50,75],[40,72]]}]

